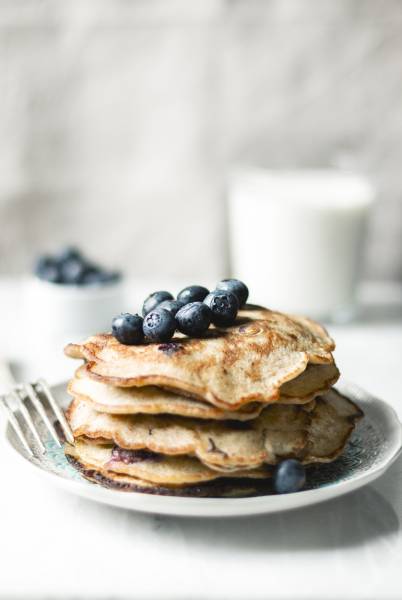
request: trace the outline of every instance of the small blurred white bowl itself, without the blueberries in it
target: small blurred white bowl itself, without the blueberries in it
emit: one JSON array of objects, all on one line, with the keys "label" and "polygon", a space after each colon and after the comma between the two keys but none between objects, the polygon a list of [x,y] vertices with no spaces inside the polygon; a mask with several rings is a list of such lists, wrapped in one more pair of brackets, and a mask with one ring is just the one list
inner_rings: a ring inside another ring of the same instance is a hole
[{"label": "small blurred white bowl itself, without the blueberries in it", "polygon": [[113,317],[124,309],[125,284],[62,285],[30,277],[23,304],[31,335],[60,344],[110,331]]}]

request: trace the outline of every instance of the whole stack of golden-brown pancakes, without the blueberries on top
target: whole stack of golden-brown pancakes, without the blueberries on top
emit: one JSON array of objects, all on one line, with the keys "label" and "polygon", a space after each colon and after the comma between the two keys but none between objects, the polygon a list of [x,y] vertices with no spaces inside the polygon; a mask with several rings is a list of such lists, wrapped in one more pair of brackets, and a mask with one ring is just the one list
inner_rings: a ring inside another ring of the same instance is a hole
[{"label": "whole stack of golden-brown pancakes, without the blueberries on top", "polygon": [[249,496],[275,465],[337,458],[362,413],[332,386],[334,343],[317,323],[247,305],[202,338],[70,344],[69,460],[108,487]]}]

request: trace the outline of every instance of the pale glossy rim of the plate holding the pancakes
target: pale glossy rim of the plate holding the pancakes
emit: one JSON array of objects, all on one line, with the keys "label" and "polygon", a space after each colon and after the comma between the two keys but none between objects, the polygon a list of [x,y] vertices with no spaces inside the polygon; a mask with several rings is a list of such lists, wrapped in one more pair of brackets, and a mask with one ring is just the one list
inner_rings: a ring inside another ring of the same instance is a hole
[{"label": "pale glossy rim of the plate holding the pancakes", "polygon": [[[65,382],[61,382],[52,385],[51,389],[63,388],[65,385]],[[357,399],[357,403],[362,402],[373,407],[373,410],[379,411],[384,421],[381,423],[381,429],[384,431],[384,428],[386,428],[387,433],[392,432],[391,439],[389,440],[390,445],[386,450],[385,456],[378,463],[367,469],[367,471],[358,473],[351,479],[341,480],[332,485],[317,489],[290,494],[255,496],[250,498],[191,498],[111,490],[100,485],[94,484],[91,486],[84,481],[81,482],[58,476],[56,473],[43,469],[40,464],[29,460],[28,457],[18,451],[9,439],[10,425],[7,422],[3,427],[2,439],[8,451],[13,456],[18,456],[19,464],[24,464],[27,468],[29,465],[34,467],[37,474],[56,487],[101,504],[141,513],[177,517],[222,518],[285,512],[305,506],[312,506],[353,492],[380,477],[402,454],[402,423],[399,420],[396,410],[384,400],[372,396],[356,384],[342,381],[335,387],[341,392],[347,391],[353,396],[363,396],[363,398]]]}]

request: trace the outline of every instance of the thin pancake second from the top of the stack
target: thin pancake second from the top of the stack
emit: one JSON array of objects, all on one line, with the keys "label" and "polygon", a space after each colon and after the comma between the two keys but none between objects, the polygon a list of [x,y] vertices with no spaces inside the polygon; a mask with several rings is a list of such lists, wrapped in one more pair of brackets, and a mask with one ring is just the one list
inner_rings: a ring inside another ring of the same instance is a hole
[{"label": "thin pancake second from the top of the stack", "polygon": [[257,417],[263,405],[250,403],[238,411],[227,411],[201,400],[192,400],[155,386],[116,387],[91,379],[86,366],[77,369],[68,384],[68,392],[92,404],[98,412],[110,414],[171,414],[197,419],[246,421]]}]

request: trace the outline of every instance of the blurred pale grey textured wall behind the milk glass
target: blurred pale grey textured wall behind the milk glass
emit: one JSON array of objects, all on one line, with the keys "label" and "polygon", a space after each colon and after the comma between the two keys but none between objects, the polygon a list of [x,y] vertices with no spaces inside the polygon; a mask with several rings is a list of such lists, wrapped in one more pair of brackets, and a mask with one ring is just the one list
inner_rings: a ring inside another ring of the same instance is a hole
[{"label": "blurred pale grey textured wall behind the milk glass", "polygon": [[239,162],[368,173],[402,278],[400,0],[0,0],[1,272],[73,241],[219,276]]}]

